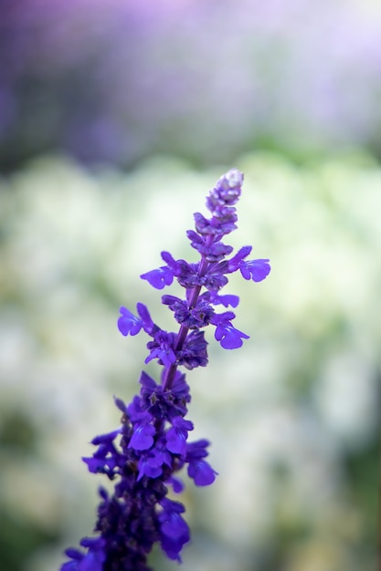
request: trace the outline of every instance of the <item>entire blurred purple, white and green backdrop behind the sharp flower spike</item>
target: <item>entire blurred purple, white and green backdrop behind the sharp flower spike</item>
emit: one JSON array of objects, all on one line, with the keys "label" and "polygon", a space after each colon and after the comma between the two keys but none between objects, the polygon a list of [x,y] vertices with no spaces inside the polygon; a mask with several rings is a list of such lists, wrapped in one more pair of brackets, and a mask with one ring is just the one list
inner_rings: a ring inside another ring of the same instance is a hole
[{"label": "entire blurred purple, white and green backdrop behind the sharp flower spike", "polygon": [[207,331],[188,375],[219,476],[181,498],[182,569],[376,568],[380,38],[376,0],[0,0],[1,569],[58,570],[90,534],[80,457],[146,356],[119,306],[173,328],[139,275],[196,261],[185,230],[233,166],[227,242],[272,270],[232,277],[250,338]]}]

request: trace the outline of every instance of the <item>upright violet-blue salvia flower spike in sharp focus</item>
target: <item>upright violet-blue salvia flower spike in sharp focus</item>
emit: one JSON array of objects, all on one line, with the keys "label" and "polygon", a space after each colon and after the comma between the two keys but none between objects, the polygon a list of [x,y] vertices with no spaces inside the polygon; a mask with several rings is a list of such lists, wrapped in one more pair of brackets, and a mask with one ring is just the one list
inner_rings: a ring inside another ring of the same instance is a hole
[{"label": "upright violet-blue salvia flower spike in sharp focus", "polygon": [[[80,545],[86,553],[68,549],[69,561],[61,571],[148,571],[147,555],[154,543],[164,553],[181,562],[180,552],[189,541],[188,525],[182,514],[185,507],[167,497],[169,486],[175,493],[183,490],[177,477],[183,467],[197,486],[213,483],[217,472],[206,456],[209,442],[188,441],[194,426],[185,419],[190,401],[185,373],[178,369],[205,367],[207,343],[204,328],[215,327],[215,337],[223,348],[242,345],[248,335],[232,325],[236,317],[228,307],[238,306],[238,296],[220,295],[228,283],[228,274],[240,271],[245,279],[259,282],[270,272],[269,260],[247,260],[250,246],[227,258],[233,248],[221,240],[236,229],[238,202],[243,175],[236,169],[222,176],[206,199],[212,214],[205,218],[195,214],[196,231],[189,230],[193,248],[200,254],[198,263],[175,260],[162,252],[164,265],[141,275],[156,289],[171,285],[176,278],[185,289],[185,298],[164,295],[162,303],[174,313],[177,332],[158,327],[142,303],[134,315],[121,307],[118,327],[123,336],[143,330],[149,337],[145,363],[156,359],[162,367],[160,383],[145,371],[140,378],[141,390],[129,405],[115,399],[122,412],[121,427],[93,439],[97,449],[83,458],[89,471],[103,473],[115,480],[112,495],[100,489],[101,503],[94,531]],[[227,311],[217,313],[216,306]]]}]

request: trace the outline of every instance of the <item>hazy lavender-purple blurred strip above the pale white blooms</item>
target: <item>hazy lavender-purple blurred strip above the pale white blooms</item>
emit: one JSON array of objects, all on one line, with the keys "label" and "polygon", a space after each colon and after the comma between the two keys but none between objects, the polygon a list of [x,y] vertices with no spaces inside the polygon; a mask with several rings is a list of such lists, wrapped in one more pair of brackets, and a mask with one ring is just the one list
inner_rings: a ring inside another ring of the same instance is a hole
[{"label": "hazy lavender-purple blurred strip above the pale white blooms", "polygon": [[47,149],[124,166],[263,141],[380,156],[376,1],[3,0],[0,26],[2,171]]}]

